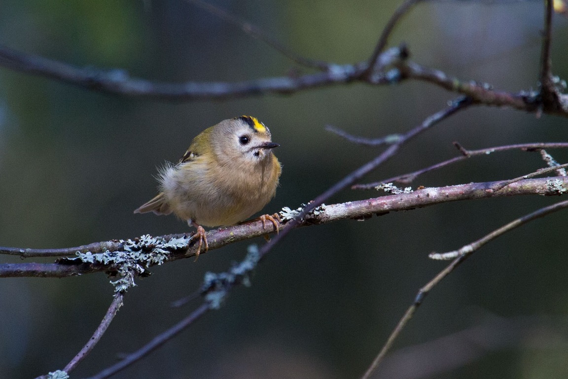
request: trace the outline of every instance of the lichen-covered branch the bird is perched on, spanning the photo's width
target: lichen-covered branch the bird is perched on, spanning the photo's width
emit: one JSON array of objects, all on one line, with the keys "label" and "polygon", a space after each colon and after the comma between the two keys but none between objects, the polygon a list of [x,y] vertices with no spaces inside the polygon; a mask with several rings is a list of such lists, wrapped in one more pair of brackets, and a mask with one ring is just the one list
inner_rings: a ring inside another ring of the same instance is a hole
[{"label": "lichen-covered branch the bird is perched on, spanning the photo's width", "polygon": [[[391,211],[410,210],[450,201],[529,194],[549,196],[568,194],[568,177],[520,180],[503,189],[494,190],[503,182],[505,181],[425,188],[408,193],[325,205],[318,207],[304,217],[298,227],[345,219],[362,220],[375,214],[382,215]],[[287,228],[289,227],[289,220],[296,214],[287,210],[287,213],[283,211],[282,215],[282,228]],[[236,241],[252,239],[274,232],[272,223],[266,223],[265,227],[263,228],[260,220],[254,220],[237,226],[208,231],[209,252]],[[154,238],[142,236],[109,246],[112,250],[108,249],[106,252],[99,253],[81,252],[77,257],[63,258],[57,263],[0,264],[0,277],[61,278],[93,272],[106,272],[123,277],[125,270],[133,272],[134,275],[144,275],[146,269],[153,265],[193,257],[197,253],[197,247],[193,244],[193,241],[190,241],[189,234],[165,235]],[[0,249],[0,252],[2,249]],[[74,251],[75,248],[62,250]],[[32,251],[33,249],[28,249],[28,254]],[[201,253],[205,252],[202,251]],[[133,280],[133,277],[131,279]],[[119,283],[118,285],[128,285],[128,283]]]}]

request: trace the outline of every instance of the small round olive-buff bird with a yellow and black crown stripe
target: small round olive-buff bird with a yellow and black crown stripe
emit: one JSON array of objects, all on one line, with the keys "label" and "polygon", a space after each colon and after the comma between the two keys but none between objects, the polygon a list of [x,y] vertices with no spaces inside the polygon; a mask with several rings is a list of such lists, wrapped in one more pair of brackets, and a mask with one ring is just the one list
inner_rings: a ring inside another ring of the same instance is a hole
[{"label": "small round olive-buff bird with a yellow and black crown stripe", "polygon": [[[160,193],[134,213],[174,213],[197,227],[197,256],[209,248],[202,226],[229,226],[260,211],[276,193],[282,172],[272,149],[270,130],[252,116],[240,116],[207,128],[193,139],[179,162],[160,170]],[[278,215],[268,219],[278,231]],[[192,237],[193,238],[193,237]]]}]

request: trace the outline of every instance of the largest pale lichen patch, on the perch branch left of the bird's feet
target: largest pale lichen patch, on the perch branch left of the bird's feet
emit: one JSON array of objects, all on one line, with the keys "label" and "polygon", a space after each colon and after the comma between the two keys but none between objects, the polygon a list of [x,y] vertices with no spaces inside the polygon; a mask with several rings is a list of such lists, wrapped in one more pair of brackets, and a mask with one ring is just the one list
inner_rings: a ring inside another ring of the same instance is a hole
[{"label": "largest pale lichen patch, on the perch branch left of the bird's feet", "polygon": [[80,260],[83,263],[98,263],[110,265],[116,269],[120,279],[111,281],[115,286],[116,292],[124,292],[128,288],[135,286],[134,278],[147,274],[147,268],[153,265],[161,265],[168,260],[168,256],[173,251],[186,248],[189,237],[172,238],[166,241],[162,238],[143,235],[134,240],[120,240],[123,244],[122,251],[106,251],[103,253],[81,253],[77,252],[77,257],[70,260]]}]

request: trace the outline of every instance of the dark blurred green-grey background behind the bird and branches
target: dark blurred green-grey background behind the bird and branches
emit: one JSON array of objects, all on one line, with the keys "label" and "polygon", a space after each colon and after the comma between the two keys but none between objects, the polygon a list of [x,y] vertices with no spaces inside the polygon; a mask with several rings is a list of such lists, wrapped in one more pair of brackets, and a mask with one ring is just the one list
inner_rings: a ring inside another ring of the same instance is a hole
[{"label": "dark blurred green-grey background behind the bird and branches", "polygon": [[[215,2],[301,55],[335,63],[366,59],[399,3]],[[391,44],[406,42],[412,59],[462,80],[510,91],[536,88],[542,17],[539,1],[425,3],[404,18]],[[557,16],[552,58],[562,78],[568,77],[567,35],[568,20]],[[3,0],[0,43],[155,81],[234,82],[294,68],[267,45],[182,0]],[[0,67],[0,245],[56,248],[186,232],[173,216],[132,211],[154,195],[157,166],[177,161],[204,128],[241,114],[257,116],[281,144],[281,186],[265,211],[298,207],[379,151],[325,132],[326,124],[368,137],[403,132],[453,98],[423,82],[404,82],[230,101],[149,101]],[[367,180],[453,157],[452,141],[471,149],[566,141],[567,126],[553,116],[473,107],[406,145]],[[568,161],[568,153],[552,153]],[[495,154],[427,174],[413,187],[502,180],[542,164],[536,153]],[[345,190],[330,202],[377,195]],[[234,290],[221,310],[115,377],[360,377],[417,289],[444,267],[428,260],[429,252],[459,248],[555,201],[535,196],[448,203],[302,228],[258,267],[251,288]],[[453,344],[438,354],[429,350],[427,365],[415,367],[410,358],[399,366],[390,361],[385,377],[568,376],[568,328],[562,322],[568,313],[566,217],[548,216],[479,251],[433,290],[394,351],[495,320],[526,316],[526,329],[499,327],[504,336],[477,335],[487,344],[473,343],[465,351]],[[171,309],[170,302],[198,288],[206,271],[223,271],[242,259],[249,243],[211,251],[197,263],[156,267],[151,277],[138,279],[72,377],[115,363],[119,353],[139,348],[183,318],[198,302],[182,309]],[[63,368],[90,338],[111,298],[104,274],[0,280],[0,377],[30,378]],[[445,369],[458,352],[466,363]],[[424,376],[431,370],[432,376]]]}]

